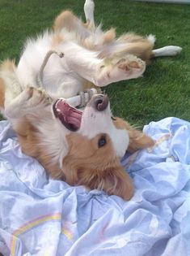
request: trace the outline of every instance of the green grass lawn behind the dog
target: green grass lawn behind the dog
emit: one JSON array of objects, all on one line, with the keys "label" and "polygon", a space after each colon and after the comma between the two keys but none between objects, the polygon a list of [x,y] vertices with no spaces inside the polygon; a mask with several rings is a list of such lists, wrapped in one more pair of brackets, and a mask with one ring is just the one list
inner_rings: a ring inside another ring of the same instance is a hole
[{"label": "green grass lawn behind the dog", "polygon": [[[84,17],[83,3],[84,0],[1,0],[0,59],[18,61],[26,38],[49,28],[61,10],[69,8]],[[102,21],[103,28],[116,27],[118,34],[154,33],[156,47],[183,47],[179,56],[154,59],[143,77],[109,85],[106,91],[113,113],[139,126],[167,116],[190,121],[190,5],[96,0],[95,21]]]}]

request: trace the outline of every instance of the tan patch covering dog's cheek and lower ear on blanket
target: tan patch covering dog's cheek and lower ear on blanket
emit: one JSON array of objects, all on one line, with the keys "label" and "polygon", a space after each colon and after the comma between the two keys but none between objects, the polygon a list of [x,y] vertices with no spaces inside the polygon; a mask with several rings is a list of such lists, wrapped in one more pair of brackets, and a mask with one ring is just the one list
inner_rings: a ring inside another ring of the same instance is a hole
[{"label": "tan patch covering dog's cheek and lower ear on blanket", "polygon": [[91,140],[78,134],[67,137],[70,152],[63,159],[65,179],[69,184],[103,189],[108,194],[129,200],[133,195],[132,181],[114,154],[108,135],[107,144],[100,149],[99,137],[101,134]]}]

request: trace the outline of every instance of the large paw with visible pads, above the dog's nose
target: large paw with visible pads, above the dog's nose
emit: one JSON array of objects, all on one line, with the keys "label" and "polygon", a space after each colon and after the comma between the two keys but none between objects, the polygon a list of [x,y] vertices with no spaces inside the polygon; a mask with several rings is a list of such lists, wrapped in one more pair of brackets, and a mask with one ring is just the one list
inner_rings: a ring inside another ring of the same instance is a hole
[{"label": "large paw with visible pads, above the dog's nose", "polygon": [[121,59],[106,59],[99,67],[99,86],[137,78],[145,72],[145,69],[146,63],[131,54],[127,54]]}]

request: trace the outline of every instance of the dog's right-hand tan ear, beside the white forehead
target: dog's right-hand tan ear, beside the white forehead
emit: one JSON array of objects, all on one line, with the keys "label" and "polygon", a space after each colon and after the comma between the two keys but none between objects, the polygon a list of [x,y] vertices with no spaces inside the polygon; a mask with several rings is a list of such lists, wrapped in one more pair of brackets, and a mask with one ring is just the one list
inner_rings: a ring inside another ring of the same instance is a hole
[{"label": "dog's right-hand tan ear, beside the white forehead", "polygon": [[134,129],[125,120],[116,117],[113,121],[116,128],[126,129],[129,132],[129,148],[128,151],[133,153],[134,151],[148,148],[154,145],[154,140],[150,138],[146,133]]}]

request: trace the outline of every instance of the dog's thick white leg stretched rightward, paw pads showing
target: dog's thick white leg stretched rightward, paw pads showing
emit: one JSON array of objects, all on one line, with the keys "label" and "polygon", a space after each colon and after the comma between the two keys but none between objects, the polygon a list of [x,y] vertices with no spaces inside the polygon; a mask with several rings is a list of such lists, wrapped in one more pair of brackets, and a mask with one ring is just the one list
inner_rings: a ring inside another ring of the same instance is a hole
[{"label": "dog's thick white leg stretched rightward, paw pads showing", "polygon": [[146,68],[141,59],[131,54],[124,54],[122,58],[99,59],[98,53],[71,42],[65,42],[60,50],[65,53],[64,61],[72,72],[97,86],[137,78]]}]

